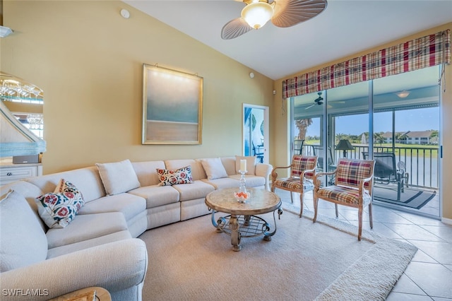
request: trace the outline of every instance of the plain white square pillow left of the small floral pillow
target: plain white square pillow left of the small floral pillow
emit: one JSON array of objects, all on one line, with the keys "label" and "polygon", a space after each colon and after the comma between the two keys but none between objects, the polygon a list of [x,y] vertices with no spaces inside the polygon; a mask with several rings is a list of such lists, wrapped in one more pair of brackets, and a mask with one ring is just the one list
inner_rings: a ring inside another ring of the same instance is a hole
[{"label": "plain white square pillow left of the small floral pillow", "polygon": [[109,196],[140,187],[140,182],[130,160],[116,163],[96,163],[100,179]]}]

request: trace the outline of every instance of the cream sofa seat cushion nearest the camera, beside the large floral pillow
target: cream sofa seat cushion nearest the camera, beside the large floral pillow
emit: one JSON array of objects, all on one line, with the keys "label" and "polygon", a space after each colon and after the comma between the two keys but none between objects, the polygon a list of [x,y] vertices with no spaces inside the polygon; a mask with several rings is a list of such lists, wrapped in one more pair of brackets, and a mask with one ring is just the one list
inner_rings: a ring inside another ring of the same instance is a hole
[{"label": "cream sofa seat cushion nearest the camera, beside the large floral pillow", "polygon": [[52,249],[124,230],[128,230],[124,215],[109,212],[76,216],[65,228],[49,229],[46,236],[48,247]]}]

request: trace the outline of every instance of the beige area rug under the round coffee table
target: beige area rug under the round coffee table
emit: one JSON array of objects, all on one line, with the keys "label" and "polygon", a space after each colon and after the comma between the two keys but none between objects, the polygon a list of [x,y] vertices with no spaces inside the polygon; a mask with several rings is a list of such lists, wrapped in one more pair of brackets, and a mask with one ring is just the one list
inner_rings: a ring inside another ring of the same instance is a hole
[{"label": "beige area rug under the round coffee table", "polygon": [[359,242],[353,225],[290,210],[270,242],[242,238],[240,252],[210,215],[146,231],[143,300],[384,300],[417,250],[365,230]]}]

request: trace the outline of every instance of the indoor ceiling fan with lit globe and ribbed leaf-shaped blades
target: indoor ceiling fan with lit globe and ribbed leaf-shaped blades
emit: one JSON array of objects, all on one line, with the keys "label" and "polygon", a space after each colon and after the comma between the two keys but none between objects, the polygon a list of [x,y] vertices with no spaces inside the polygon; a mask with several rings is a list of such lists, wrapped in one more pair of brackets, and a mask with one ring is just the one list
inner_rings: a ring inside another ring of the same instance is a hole
[{"label": "indoor ceiling fan with lit globe and ribbed leaf-shaped blades", "polygon": [[286,28],[314,18],[326,8],[326,0],[235,0],[246,6],[242,16],[230,20],[221,30],[223,40],[239,37],[259,29],[271,19],[274,25]]}]

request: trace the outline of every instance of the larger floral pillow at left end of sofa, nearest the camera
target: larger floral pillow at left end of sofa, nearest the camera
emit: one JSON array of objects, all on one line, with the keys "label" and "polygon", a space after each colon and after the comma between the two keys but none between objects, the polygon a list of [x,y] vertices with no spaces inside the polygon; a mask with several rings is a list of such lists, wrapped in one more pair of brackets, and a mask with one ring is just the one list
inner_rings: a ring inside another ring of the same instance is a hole
[{"label": "larger floral pillow at left end of sofa, nearest the camera", "polygon": [[40,217],[49,228],[64,228],[76,217],[85,201],[77,187],[61,179],[53,193],[38,196],[36,203]]}]

